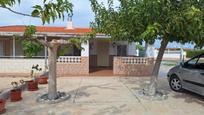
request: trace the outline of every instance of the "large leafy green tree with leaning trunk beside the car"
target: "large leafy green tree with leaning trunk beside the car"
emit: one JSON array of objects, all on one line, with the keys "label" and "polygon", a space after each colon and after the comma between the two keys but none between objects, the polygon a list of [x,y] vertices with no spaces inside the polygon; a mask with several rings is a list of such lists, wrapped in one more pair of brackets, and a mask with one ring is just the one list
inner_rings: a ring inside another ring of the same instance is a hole
[{"label": "large leafy green tree with leaning trunk beside the car", "polygon": [[152,71],[148,95],[155,95],[164,51],[169,42],[204,45],[204,0],[107,0],[104,6],[90,0],[95,13],[92,26],[112,39],[146,41],[161,40]]}]

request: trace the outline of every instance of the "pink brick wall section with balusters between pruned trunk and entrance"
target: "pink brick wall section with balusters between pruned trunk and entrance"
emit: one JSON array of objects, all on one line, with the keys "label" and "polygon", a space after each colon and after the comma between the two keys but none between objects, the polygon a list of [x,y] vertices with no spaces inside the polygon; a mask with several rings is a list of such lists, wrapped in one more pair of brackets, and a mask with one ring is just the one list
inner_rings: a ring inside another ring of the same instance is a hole
[{"label": "pink brick wall section with balusters between pruned trunk and entrance", "polygon": [[81,56],[60,56],[57,63],[58,76],[89,75],[89,58]]}]

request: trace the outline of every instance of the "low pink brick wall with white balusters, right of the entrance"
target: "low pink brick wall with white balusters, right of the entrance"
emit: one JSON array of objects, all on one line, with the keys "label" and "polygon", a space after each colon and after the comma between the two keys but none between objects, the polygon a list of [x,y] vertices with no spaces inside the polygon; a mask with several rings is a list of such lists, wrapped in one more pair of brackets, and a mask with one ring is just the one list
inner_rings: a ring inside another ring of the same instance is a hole
[{"label": "low pink brick wall with white balusters, right of the entrance", "polygon": [[114,57],[113,74],[124,76],[150,76],[153,67],[153,58]]}]

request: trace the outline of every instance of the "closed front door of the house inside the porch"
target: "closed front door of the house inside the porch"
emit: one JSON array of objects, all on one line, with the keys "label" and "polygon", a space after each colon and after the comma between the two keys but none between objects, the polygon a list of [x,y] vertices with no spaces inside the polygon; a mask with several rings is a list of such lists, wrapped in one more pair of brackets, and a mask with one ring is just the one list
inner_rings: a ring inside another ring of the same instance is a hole
[{"label": "closed front door of the house inside the porch", "polygon": [[105,40],[97,41],[97,66],[109,66],[109,42]]}]

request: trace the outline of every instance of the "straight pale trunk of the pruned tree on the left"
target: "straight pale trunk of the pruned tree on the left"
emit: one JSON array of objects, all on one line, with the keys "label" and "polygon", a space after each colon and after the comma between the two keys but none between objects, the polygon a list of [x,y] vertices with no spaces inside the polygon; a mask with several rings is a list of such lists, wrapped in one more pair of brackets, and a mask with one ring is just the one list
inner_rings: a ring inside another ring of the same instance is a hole
[{"label": "straight pale trunk of the pruned tree on the left", "polygon": [[49,63],[49,83],[48,83],[48,98],[50,100],[57,98],[57,73],[56,73],[56,59],[57,46],[48,48],[48,63]]}]

